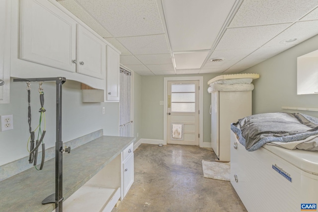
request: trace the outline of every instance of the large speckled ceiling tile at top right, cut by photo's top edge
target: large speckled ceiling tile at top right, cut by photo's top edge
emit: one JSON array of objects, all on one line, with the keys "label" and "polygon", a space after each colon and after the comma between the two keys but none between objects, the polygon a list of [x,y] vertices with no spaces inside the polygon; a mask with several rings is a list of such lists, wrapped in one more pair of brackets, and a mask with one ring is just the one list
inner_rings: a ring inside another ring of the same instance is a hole
[{"label": "large speckled ceiling tile at top right, cut by photo's top edge", "polygon": [[230,27],[294,22],[317,4],[318,0],[244,0]]}]

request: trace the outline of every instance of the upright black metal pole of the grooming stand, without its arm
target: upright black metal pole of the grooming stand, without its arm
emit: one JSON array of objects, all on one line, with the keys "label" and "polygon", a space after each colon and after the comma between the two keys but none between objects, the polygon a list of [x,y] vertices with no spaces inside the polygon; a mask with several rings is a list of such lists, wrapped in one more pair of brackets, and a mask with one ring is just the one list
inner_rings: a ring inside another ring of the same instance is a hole
[{"label": "upright black metal pole of the grooming stand, without its arm", "polygon": [[55,206],[63,212],[62,81],[56,82]]}]

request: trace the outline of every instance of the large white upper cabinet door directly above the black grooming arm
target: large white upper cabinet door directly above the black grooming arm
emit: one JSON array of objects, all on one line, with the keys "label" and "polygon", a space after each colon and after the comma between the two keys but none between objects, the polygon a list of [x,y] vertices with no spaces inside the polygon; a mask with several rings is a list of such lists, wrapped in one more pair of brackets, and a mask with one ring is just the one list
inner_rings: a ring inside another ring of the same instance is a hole
[{"label": "large white upper cabinet door directly above the black grooming arm", "polygon": [[75,20],[47,0],[20,7],[20,59],[75,72]]}]

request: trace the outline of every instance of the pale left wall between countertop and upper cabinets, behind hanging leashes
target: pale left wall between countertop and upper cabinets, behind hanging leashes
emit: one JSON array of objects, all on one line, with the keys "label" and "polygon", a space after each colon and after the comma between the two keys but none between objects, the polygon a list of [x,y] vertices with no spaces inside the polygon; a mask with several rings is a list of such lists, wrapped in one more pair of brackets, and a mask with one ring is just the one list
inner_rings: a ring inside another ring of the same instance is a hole
[{"label": "pale left wall between countertop and upper cabinets, behind hanging leashes", "polygon": [[[55,146],[56,85],[44,82],[46,109],[45,147]],[[39,122],[39,85],[31,85],[32,130]],[[82,103],[80,83],[67,81],[62,93],[62,140],[70,141],[103,129],[104,135],[118,136],[118,103]],[[25,82],[10,82],[10,103],[0,104],[0,115],[13,114],[13,130],[0,132],[0,165],[28,155],[27,91]],[[102,115],[102,107],[106,113]],[[37,134],[36,134],[37,137]]]}]

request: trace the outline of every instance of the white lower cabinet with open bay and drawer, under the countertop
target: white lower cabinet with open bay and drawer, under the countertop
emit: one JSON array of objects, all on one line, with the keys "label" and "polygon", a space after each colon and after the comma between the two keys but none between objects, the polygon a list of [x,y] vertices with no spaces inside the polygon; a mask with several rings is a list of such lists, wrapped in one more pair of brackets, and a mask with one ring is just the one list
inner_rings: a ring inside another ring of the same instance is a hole
[{"label": "white lower cabinet with open bay and drawer, under the countertop", "polygon": [[[123,160],[124,159],[124,160]],[[111,212],[134,182],[133,143],[63,203],[64,212]]]}]

